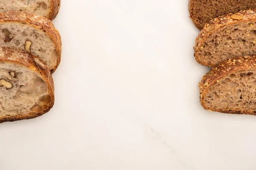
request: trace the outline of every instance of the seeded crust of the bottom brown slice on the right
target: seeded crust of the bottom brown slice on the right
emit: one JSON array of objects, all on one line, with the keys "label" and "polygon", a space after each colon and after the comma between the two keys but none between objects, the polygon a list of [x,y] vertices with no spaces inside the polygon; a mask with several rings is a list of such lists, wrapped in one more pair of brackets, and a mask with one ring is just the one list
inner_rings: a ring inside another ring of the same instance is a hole
[{"label": "seeded crust of the bottom brown slice on the right", "polygon": [[202,77],[202,80],[199,83],[200,102],[202,107],[209,111],[216,111],[221,113],[256,115],[256,113],[247,113],[245,111],[229,111],[221,109],[215,110],[213,108],[208,108],[206,105],[204,105],[203,102],[207,90],[215,82],[230,74],[236,73],[237,71],[243,71],[247,69],[256,69],[256,56],[244,56],[228,59],[224,62],[221,62],[217,67],[213,67],[207,74],[204,75],[204,77]]}]

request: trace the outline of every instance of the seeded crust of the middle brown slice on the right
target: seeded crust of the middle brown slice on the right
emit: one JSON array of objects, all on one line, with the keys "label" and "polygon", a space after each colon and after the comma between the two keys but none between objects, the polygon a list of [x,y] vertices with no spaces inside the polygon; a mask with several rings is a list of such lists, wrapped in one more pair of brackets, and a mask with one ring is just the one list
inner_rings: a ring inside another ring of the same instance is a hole
[{"label": "seeded crust of the middle brown slice on the right", "polygon": [[[233,19],[232,16],[241,16],[244,19],[236,20]],[[199,52],[201,50],[201,46],[204,45],[204,42],[209,38],[209,36],[224,26],[233,26],[239,23],[247,23],[247,22],[256,22],[256,9],[253,10],[247,10],[247,11],[240,11],[236,14],[227,14],[224,16],[217,17],[213,20],[211,20],[208,24],[204,26],[204,28],[201,30],[200,34],[195,40],[195,46],[194,46],[194,57],[196,61],[201,64],[208,67],[215,66],[212,63],[203,62],[198,59]]]}]

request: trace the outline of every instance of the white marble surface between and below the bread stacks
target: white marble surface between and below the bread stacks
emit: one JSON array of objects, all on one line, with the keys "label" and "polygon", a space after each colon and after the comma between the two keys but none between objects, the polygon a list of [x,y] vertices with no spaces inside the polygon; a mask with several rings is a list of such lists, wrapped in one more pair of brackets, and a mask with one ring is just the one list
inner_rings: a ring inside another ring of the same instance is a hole
[{"label": "white marble surface between and below the bread stacks", "polygon": [[55,105],[0,124],[0,170],[255,170],[256,116],[205,111],[187,0],[62,0]]}]

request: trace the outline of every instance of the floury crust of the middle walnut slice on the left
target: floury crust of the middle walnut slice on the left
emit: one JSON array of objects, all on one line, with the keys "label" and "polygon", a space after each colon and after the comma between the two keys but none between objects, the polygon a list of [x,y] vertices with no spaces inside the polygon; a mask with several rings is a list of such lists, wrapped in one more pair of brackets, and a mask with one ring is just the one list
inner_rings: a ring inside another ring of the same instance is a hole
[{"label": "floury crust of the middle walnut slice on the left", "polygon": [[51,71],[54,71],[58,68],[58,65],[61,62],[61,36],[58,30],[54,27],[52,21],[48,20],[46,17],[41,17],[38,15],[32,15],[26,12],[21,11],[9,11],[6,13],[0,13],[0,23],[1,22],[19,22],[26,23],[35,28],[44,30],[49,37],[52,38],[56,51],[58,53],[58,61],[55,68]]}]

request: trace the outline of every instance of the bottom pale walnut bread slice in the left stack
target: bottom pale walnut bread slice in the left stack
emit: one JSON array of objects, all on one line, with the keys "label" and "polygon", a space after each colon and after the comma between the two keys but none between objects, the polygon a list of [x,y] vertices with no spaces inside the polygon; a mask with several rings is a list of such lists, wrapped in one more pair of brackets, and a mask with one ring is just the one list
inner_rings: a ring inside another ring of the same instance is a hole
[{"label": "bottom pale walnut bread slice in the left stack", "polygon": [[31,119],[54,103],[47,65],[25,50],[0,47],[0,123]]}]

